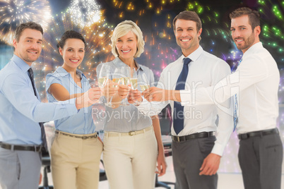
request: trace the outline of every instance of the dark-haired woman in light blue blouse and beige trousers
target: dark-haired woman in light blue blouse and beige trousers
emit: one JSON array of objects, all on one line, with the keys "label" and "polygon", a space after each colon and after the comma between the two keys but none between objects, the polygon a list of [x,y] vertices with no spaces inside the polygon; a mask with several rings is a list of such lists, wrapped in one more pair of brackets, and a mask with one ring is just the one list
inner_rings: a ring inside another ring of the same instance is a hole
[{"label": "dark-haired woman in light blue blouse and beige trousers", "polygon": [[[49,102],[79,97],[90,89],[88,79],[77,69],[85,55],[83,36],[73,30],[66,31],[57,47],[64,63],[47,75]],[[96,90],[99,94],[100,89]],[[51,147],[54,188],[98,188],[102,142],[95,132],[91,106],[54,123],[56,131]]]}]

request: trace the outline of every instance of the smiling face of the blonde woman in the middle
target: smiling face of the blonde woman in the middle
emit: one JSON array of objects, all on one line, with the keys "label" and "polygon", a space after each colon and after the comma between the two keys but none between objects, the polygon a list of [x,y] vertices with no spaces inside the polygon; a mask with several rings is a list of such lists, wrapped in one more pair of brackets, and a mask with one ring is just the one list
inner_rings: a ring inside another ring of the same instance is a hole
[{"label": "smiling face of the blonde woman in the middle", "polygon": [[115,47],[119,53],[119,59],[121,59],[124,63],[132,62],[137,51],[136,35],[129,31],[126,35],[117,39]]}]

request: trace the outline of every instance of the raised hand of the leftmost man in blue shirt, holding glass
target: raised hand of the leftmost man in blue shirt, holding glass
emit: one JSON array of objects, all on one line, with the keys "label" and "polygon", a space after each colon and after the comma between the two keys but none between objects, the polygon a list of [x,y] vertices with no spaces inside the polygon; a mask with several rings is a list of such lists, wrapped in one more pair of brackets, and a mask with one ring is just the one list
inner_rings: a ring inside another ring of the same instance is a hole
[{"label": "raised hand of the leftmost man in blue shirt, holding glass", "polygon": [[100,90],[100,87],[90,88],[90,90],[76,99],[76,108],[81,109],[95,104],[100,99],[100,97],[102,97],[102,91]]}]

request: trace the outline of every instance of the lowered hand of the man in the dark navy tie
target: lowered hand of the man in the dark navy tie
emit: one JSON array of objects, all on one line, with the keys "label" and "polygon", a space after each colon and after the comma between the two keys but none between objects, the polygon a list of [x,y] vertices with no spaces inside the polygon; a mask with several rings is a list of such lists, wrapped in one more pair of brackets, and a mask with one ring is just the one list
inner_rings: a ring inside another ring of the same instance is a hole
[{"label": "lowered hand of the man in the dark navy tie", "polygon": [[208,154],[203,160],[199,175],[215,175],[219,169],[221,157],[218,154]]}]

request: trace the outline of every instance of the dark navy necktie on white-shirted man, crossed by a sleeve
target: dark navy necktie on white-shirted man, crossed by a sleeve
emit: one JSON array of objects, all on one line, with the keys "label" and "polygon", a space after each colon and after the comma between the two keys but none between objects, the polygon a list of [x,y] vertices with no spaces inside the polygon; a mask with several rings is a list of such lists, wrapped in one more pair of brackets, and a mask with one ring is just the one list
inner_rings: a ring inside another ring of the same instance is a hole
[{"label": "dark navy necktie on white-shirted man, crossed by a sleeve", "polygon": [[[189,73],[189,63],[191,59],[184,58],[184,66],[182,72],[177,79],[177,85],[175,90],[184,90],[185,82],[187,80],[187,74]],[[176,134],[184,128],[184,106],[180,102],[174,102],[174,131]]]}]

